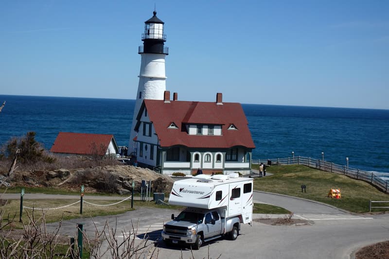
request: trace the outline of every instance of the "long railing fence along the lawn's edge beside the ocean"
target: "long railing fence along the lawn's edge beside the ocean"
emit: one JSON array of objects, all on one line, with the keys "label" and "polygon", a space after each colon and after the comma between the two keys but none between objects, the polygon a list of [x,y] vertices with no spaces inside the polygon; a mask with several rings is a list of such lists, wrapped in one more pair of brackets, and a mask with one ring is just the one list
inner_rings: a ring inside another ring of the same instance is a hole
[{"label": "long railing fence along the lawn's edge beside the ocean", "polygon": [[[260,164],[260,163],[267,163],[268,159],[253,159],[253,164]],[[347,175],[351,178],[362,180],[365,182],[370,183],[372,186],[376,187],[379,190],[382,190],[384,192],[388,192],[389,186],[388,182],[381,177],[375,175],[372,172],[366,172],[359,169],[351,168],[345,165],[337,165],[332,162],[328,162],[321,159],[313,159],[311,157],[304,157],[304,156],[293,156],[293,157],[286,157],[286,158],[276,158],[276,159],[269,159],[273,164],[277,165],[292,165],[292,164],[298,164],[298,165],[305,165],[311,168],[316,168],[321,171],[325,172],[331,172],[331,173],[338,173]]]}]

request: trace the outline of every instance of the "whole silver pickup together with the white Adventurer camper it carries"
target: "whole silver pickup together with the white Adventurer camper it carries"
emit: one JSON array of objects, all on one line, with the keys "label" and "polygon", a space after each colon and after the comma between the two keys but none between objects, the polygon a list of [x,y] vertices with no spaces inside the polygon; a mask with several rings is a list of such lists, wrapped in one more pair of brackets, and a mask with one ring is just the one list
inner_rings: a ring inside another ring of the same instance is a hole
[{"label": "whole silver pickup together with the white Adventurer camper it carries", "polygon": [[187,208],[163,226],[163,241],[199,249],[203,242],[221,236],[235,240],[240,224],[252,223],[252,187],[253,179],[238,173],[200,174],[176,181],[169,204]]}]

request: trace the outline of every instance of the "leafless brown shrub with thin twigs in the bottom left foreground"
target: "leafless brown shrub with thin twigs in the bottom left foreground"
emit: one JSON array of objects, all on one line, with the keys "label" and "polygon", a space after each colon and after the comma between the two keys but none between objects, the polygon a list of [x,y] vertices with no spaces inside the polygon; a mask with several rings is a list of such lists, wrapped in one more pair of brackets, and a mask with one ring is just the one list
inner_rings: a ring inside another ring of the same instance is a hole
[{"label": "leafless brown shrub with thin twigs in the bottom left foreground", "polygon": [[[78,244],[76,243],[74,250],[72,250],[70,239],[59,235],[62,220],[49,233],[44,213],[42,217],[36,219],[33,209],[31,214],[28,213],[28,223],[22,222],[22,233],[15,235],[12,229],[4,230],[4,227],[14,222],[14,218],[11,218],[7,224],[4,224],[2,214],[0,216],[0,258],[52,259],[80,257]],[[138,227],[134,226],[132,221],[131,225],[129,225],[130,231],[128,233],[123,230],[120,231],[121,237],[117,236],[119,234],[117,222],[111,227],[107,218],[102,229],[99,229],[94,222],[93,224],[95,230],[94,237],[88,237],[86,232],[82,233],[84,247],[89,251],[90,258],[158,258],[158,250],[154,247],[153,242],[149,242],[147,238],[136,242]],[[77,231],[75,230],[76,233]],[[74,240],[77,242],[76,238]],[[65,253],[59,254],[57,252],[58,245],[68,245],[69,248]]]}]

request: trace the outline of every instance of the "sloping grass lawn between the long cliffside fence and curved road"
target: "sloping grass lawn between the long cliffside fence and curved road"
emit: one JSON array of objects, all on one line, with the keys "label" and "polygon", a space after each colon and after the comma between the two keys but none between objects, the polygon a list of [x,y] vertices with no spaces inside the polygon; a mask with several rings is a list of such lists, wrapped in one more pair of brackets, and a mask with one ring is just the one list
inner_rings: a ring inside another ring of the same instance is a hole
[{"label": "sloping grass lawn between the long cliffside fence and curved road", "polygon": [[[254,190],[310,199],[351,212],[368,212],[370,200],[389,200],[388,194],[364,181],[302,165],[271,166],[266,168],[266,172],[273,173],[273,175],[255,178]],[[301,185],[306,186],[306,192],[301,192]],[[331,189],[340,189],[341,199],[327,197]]]}]

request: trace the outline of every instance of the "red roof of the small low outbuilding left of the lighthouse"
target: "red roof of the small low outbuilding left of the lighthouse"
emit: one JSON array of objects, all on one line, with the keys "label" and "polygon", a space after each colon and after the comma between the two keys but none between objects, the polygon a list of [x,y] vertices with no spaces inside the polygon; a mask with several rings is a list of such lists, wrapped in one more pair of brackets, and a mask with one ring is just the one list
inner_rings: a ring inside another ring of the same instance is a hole
[{"label": "red roof of the small low outbuilding left of the lighthouse", "polygon": [[114,145],[116,145],[116,140],[113,135],[60,132],[58,133],[50,152],[92,155],[93,146],[95,146],[98,155],[105,155],[106,150],[101,150],[100,146],[104,145],[108,148],[112,139]]}]

